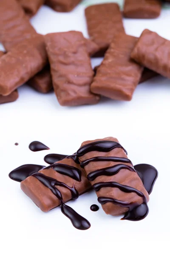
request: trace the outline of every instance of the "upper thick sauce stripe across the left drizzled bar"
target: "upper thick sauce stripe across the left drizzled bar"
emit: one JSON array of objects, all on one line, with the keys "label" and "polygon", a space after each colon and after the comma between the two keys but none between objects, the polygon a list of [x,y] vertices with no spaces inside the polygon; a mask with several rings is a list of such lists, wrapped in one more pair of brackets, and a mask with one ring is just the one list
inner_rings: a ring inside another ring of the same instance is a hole
[{"label": "upper thick sauce stripe across the left drizzled bar", "polygon": [[52,168],[54,171],[62,175],[67,175],[74,180],[81,181],[81,171],[74,166],[69,166],[64,163],[54,163],[51,166],[47,166],[45,169],[49,168]]}]

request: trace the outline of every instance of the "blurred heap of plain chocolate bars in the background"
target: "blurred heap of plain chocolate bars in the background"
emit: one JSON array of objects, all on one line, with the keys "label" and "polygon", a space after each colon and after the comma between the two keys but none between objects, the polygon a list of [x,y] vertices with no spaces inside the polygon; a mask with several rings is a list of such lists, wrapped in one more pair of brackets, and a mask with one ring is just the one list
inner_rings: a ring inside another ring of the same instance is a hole
[{"label": "blurred heap of plain chocolate bars in the background", "polygon": [[[80,0],[0,0],[0,103],[17,99],[27,83],[42,93],[54,88],[62,106],[96,104],[101,96],[129,101],[136,86],[158,74],[170,78],[170,41],[144,30],[126,35],[116,3],[85,9],[88,34],[69,31],[37,34],[28,17],[47,3],[68,12]],[[25,12],[24,12],[25,10]],[[159,0],[125,0],[124,17],[156,18]],[[91,56],[103,56],[92,70]]]}]

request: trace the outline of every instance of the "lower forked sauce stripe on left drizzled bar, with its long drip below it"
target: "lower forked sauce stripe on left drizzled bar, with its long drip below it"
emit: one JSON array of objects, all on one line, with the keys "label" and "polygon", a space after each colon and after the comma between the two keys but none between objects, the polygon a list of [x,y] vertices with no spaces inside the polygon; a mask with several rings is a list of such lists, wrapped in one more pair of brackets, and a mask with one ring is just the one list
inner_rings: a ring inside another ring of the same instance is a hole
[{"label": "lower forked sauce stripe on left drizzled bar, with its long drip below it", "polygon": [[75,228],[79,230],[87,230],[89,227],[91,227],[91,224],[88,220],[79,215],[76,211],[74,211],[74,209],[63,203],[62,194],[59,189],[56,188],[56,186],[65,187],[71,192],[72,199],[77,199],[79,197],[79,193],[75,186],[70,187],[63,182],[45,176],[40,172],[34,173],[32,176],[36,177],[44,186],[48,187],[51,192],[61,201],[62,213],[71,220],[71,223]]}]

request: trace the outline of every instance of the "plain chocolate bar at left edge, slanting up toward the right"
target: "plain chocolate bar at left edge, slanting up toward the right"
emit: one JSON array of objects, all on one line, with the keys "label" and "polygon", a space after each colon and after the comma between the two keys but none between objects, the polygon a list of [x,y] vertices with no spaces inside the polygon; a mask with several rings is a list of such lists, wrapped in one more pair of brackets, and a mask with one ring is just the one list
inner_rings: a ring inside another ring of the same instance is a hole
[{"label": "plain chocolate bar at left edge, slanting up toward the right", "polygon": [[44,41],[38,36],[34,43],[36,46],[29,44],[29,40],[24,41],[0,58],[1,95],[9,95],[47,63]]}]

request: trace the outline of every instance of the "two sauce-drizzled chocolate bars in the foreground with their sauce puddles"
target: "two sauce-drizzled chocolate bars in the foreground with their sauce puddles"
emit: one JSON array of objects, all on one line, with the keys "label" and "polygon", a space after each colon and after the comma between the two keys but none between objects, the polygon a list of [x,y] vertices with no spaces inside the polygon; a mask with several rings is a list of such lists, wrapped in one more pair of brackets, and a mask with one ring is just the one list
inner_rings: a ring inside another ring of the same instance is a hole
[{"label": "two sauce-drizzled chocolate bars in the foreground with their sauce puddles", "polygon": [[43,212],[61,206],[74,227],[86,230],[89,221],[65,203],[94,189],[106,214],[124,214],[122,219],[130,221],[147,216],[147,202],[158,172],[147,164],[133,166],[116,138],[85,141],[75,154],[56,154],[56,160],[55,154],[47,155],[45,161],[51,162],[50,166],[25,165],[9,174],[12,180],[21,182],[23,192]]}]

